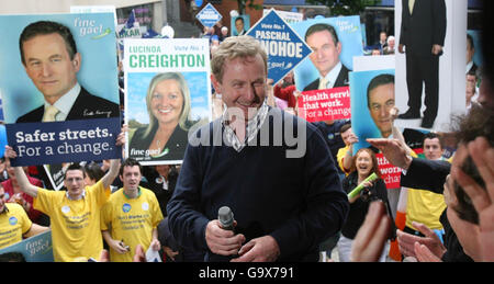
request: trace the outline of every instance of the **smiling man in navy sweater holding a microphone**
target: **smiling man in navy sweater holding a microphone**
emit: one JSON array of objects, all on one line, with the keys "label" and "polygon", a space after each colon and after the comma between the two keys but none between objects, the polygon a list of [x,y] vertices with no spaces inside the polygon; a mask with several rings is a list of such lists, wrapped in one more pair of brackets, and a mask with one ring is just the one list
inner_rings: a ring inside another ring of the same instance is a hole
[{"label": "smiling man in navy sweater holding a microphone", "polygon": [[[189,138],[167,206],[172,235],[206,260],[317,261],[349,209],[323,136],[266,104],[267,54],[255,38],[226,38],[211,65],[226,110]],[[218,219],[223,206],[234,230]]]}]

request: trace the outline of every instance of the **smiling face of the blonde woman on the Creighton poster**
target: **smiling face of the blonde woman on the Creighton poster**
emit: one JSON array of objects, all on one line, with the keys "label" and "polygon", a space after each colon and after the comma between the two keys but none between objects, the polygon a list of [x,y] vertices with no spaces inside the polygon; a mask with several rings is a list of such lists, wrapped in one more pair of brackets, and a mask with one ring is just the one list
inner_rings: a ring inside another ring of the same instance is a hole
[{"label": "smiling face of the blonde woman on the Creighton poster", "polygon": [[183,109],[180,83],[173,79],[157,83],[151,93],[150,110],[159,125],[177,125]]}]

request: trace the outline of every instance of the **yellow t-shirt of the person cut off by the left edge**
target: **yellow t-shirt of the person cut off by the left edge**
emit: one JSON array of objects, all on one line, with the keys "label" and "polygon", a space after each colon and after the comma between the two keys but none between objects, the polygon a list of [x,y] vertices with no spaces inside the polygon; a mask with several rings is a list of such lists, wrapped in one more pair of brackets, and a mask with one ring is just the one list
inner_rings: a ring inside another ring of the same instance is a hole
[{"label": "yellow t-shirt of the person cut off by the left edge", "polygon": [[0,249],[22,241],[22,235],[33,224],[24,208],[16,203],[5,203],[8,212],[0,214]]}]

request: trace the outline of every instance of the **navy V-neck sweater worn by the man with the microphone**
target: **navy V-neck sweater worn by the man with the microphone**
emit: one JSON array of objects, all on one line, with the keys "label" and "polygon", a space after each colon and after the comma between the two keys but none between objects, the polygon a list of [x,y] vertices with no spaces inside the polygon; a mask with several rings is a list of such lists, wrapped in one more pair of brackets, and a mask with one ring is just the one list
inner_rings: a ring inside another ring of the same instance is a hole
[{"label": "navy V-neck sweater worn by the man with the microphone", "polygon": [[[340,230],[349,206],[321,133],[279,109],[270,109],[254,139],[257,146],[237,152],[225,143],[213,144],[223,132],[216,120],[193,134],[202,144],[189,143],[187,148],[167,206],[179,245],[206,251],[206,225],[217,218],[220,207],[228,206],[237,221],[235,231],[244,234],[246,242],[270,235],[280,248],[278,261],[317,261],[318,245]],[[280,141],[283,132],[303,138],[293,146]],[[274,139],[279,145],[273,145]],[[261,146],[267,140],[269,146]],[[287,157],[288,150],[302,144],[305,155]]]}]

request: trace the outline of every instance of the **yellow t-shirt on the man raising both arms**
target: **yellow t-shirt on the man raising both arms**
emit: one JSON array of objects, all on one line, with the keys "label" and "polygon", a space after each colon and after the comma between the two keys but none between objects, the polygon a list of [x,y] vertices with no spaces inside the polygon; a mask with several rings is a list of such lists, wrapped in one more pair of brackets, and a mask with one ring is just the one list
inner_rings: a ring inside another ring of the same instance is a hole
[{"label": "yellow t-shirt on the man raising both arms", "polygon": [[53,255],[57,262],[98,260],[103,250],[100,211],[111,194],[110,186],[104,189],[100,180],[85,191],[82,198],[72,201],[65,191],[38,188],[34,198],[34,208],[49,216]]}]

